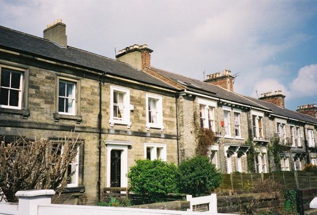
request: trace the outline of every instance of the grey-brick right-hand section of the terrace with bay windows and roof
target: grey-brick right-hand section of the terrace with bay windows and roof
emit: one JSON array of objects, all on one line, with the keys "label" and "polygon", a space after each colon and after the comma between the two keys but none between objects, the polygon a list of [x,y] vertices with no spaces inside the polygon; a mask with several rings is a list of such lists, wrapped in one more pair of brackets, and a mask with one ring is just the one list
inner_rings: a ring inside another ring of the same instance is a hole
[{"label": "grey-brick right-hand section of the terrace with bay windows and roof", "polygon": [[136,47],[139,46],[120,50],[117,60],[178,85],[180,160],[195,155],[194,131],[199,125],[216,135],[210,156],[222,172],[250,171],[246,158],[248,139],[256,146],[255,172],[278,170],[273,159],[268,158],[267,145],[274,137],[279,138],[284,149],[279,160],[282,171],[302,170],[306,163],[315,162],[316,118],[285,109],[285,96],[280,90],[275,94],[263,93],[260,99],[239,95],[233,92],[234,76],[229,70],[200,81],[152,67],[151,53],[145,55]]}]

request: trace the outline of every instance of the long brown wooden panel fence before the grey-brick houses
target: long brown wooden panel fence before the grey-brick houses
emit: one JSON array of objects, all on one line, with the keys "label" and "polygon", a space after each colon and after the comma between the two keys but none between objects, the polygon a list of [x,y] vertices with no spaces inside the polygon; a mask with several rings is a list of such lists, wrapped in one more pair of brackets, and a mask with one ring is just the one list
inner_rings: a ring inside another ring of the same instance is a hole
[{"label": "long brown wooden panel fence before the grey-brick houses", "polygon": [[312,172],[273,172],[273,173],[231,173],[223,174],[220,188],[245,190],[255,182],[270,178],[286,189],[317,188],[317,173]]}]

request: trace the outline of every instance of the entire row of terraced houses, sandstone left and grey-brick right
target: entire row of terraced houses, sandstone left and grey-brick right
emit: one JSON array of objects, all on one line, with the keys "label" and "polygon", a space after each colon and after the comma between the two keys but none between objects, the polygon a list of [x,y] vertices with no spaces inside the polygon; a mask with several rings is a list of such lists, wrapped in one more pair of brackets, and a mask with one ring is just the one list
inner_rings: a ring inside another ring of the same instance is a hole
[{"label": "entire row of terraced houses, sandstone left and grey-brick right", "polygon": [[85,192],[90,203],[104,187],[126,187],[136,159],[179,164],[195,156],[200,127],[215,134],[210,158],[224,173],[251,171],[250,142],[255,172],[277,170],[268,157],[273,137],[283,146],[281,170],[317,163],[317,119],[304,106],[285,109],[281,91],[260,99],[235,93],[229,70],[200,81],[155,68],[152,52],[135,44],[113,60],[73,48],[61,20],[44,38],[0,26],[1,141],[56,142],[75,131],[78,156],[65,192]]}]

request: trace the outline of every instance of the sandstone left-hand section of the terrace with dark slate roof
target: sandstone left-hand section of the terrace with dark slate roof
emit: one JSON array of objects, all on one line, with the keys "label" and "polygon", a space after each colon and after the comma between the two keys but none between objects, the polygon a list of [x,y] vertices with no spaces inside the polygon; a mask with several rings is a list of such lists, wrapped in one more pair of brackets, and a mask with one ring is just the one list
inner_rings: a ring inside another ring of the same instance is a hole
[{"label": "sandstone left-hand section of the terrace with dark slate roof", "polygon": [[1,140],[60,141],[71,131],[80,144],[65,192],[93,203],[104,187],[127,186],[136,159],[177,163],[176,88],[68,46],[61,20],[44,38],[0,27]]}]

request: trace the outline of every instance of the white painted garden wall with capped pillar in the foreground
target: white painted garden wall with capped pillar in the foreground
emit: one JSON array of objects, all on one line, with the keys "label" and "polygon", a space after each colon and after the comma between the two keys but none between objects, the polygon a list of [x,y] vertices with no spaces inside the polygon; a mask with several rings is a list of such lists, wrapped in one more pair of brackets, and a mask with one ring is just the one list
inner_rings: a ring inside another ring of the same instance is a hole
[{"label": "white painted garden wall with capped pillar in the foreground", "polygon": [[[201,215],[200,212],[183,212],[169,210],[115,208],[98,206],[76,206],[51,204],[51,198],[55,194],[53,190],[19,191],[15,195],[19,197],[18,204],[0,202],[0,215]],[[194,199],[194,204],[199,199]],[[195,200],[196,199],[196,200]],[[201,199],[211,202],[211,198]],[[199,204],[201,203],[198,202]],[[205,212],[204,214],[216,215]],[[221,214],[217,214],[221,215]],[[224,215],[224,214],[222,214]]]}]

